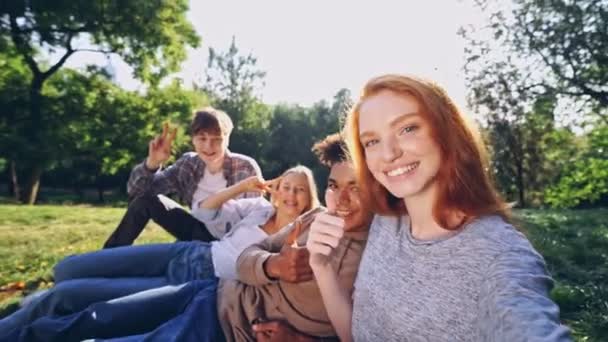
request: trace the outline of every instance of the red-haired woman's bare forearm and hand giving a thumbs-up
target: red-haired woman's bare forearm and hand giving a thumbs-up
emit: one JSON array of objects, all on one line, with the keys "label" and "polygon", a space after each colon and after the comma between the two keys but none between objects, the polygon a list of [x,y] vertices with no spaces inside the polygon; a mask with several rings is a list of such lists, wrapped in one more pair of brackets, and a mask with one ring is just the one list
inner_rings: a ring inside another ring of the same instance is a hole
[{"label": "red-haired woman's bare forearm and hand giving a thumbs-up", "polygon": [[340,285],[337,271],[328,262],[334,248],[344,235],[344,220],[329,214],[319,214],[312,223],[306,246],[310,266],[321,291],[323,304],[340,341],[352,341],[351,321],[353,303],[351,292]]}]

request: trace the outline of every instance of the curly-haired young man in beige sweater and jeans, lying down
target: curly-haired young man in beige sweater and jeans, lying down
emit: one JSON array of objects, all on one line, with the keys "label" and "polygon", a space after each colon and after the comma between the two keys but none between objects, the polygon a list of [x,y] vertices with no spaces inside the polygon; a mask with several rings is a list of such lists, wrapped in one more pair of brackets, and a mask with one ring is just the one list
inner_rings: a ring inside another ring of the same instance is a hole
[{"label": "curly-haired young man in beige sweater and jeans, lying down", "polygon": [[[352,288],[365,245],[369,211],[362,205],[355,174],[343,143],[333,135],[315,145],[322,162],[331,166],[325,199],[330,211],[345,222],[344,244],[331,263]],[[316,214],[316,213],[315,213]],[[39,319],[21,337],[30,340],[112,341],[313,341],[335,336],[308,266],[305,247],[313,216],[309,213],[238,259],[242,282],[196,280],[96,303],[60,318]],[[219,300],[218,300],[219,299]],[[218,307],[225,337],[219,328]],[[162,308],[162,309],[159,309]],[[127,322],[127,323],[125,323]],[[251,323],[256,325],[252,326]],[[49,334],[45,327],[62,326]],[[335,338],[334,338],[335,339]]]}]

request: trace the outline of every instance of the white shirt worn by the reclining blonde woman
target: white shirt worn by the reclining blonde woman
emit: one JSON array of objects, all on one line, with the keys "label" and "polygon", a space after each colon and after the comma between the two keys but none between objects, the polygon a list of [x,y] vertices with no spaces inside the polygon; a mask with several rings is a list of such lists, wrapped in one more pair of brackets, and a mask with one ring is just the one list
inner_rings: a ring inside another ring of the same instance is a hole
[{"label": "white shirt worn by the reclining blonde woman", "polygon": [[236,260],[241,252],[268,234],[262,230],[275,208],[264,197],[228,200],[219,209],[196,208],[192,215],[219,240],[211,242],[215,276],[237,279]]}]

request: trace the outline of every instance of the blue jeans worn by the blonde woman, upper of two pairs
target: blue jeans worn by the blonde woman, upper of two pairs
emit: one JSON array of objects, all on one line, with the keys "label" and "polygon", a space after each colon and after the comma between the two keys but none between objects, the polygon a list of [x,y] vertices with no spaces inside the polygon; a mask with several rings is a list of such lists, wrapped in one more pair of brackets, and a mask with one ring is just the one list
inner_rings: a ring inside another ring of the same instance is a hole
[{"label": "blue jeans worn by the blonde woman, upper of two pairs", "polygon": [[0,320],[0,339],[39,317],[67,315],[92,303],[215,277],[211,245],[204,242],[104,249],[69,256],[55,266],[54,272],[54,288]]}]

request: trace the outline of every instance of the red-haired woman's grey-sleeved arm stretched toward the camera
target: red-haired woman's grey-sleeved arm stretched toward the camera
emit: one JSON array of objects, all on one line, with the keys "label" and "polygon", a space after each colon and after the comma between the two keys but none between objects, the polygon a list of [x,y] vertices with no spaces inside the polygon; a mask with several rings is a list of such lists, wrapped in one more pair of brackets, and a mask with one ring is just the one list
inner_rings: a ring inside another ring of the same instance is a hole
[{"label": "red-haired woman's grey-sleeved arm stretched toward the camera", "polygon": [[479,332],[484,341],[571,341],[549,298],[553,281],[532,247],[502,252],[482,285]]}]

